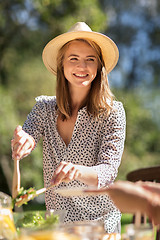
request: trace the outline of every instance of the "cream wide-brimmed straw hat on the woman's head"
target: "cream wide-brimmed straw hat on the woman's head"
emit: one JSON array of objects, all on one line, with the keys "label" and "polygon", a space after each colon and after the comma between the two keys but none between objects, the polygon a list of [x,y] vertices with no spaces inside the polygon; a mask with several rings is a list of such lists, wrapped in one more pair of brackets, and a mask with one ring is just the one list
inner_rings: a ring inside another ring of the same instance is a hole
[{"label": "cream wide-brimmed straw hat on the woman's head", "polygon": [[84,22],[77,22],[68,32],[53,38],[44,48],[42,59],[46,68],[56,75],[57,72],[57,54],[59,49],[67,42],[85,38],[94,41],[101,48],[103,60],[107,73],[115,67],[119,57],[119,51],[116,44],[107,36],[93,32]]}]

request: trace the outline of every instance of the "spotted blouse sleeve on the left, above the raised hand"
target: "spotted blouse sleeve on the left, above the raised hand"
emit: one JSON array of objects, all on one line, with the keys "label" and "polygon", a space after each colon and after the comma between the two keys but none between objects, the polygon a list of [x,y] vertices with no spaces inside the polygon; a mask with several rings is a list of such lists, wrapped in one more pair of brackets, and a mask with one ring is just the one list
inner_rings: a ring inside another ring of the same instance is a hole
[{"label": "spotted blouse sleeve on the left, above the raised hand", "polygon": [[43,135],[44,118],[46,114],[44,102],[39,98],[36,98],[36,100],[37,103],[28,114],[27,120],[23,125],[23,130],[34,138],[35,144],[38,143]]}]

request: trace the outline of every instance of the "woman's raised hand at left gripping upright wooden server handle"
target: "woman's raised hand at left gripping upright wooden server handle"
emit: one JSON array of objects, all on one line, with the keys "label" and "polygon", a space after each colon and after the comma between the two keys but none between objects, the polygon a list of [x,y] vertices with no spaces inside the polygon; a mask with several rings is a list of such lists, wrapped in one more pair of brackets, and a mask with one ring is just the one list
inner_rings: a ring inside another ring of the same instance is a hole
[{"label": "woman's raised hand at left gripping upright wooden server handle", "polygon": [[17,126],[11,140],[12,158],[20,160],[30,154],[34,146],[35,141],[33,137],[22,130],[21,126]]}]

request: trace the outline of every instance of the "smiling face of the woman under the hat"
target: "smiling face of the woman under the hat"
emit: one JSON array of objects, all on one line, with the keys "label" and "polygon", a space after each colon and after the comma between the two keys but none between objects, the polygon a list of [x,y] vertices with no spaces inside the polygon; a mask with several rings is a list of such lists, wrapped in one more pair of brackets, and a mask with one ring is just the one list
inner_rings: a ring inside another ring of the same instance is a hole
[{"label": "smiling face of the woman under the hat", "polygon": [[97,75],[97,54],[88,43],[75,40],[64,54],[63,68],[69,86],[90,88]]}]

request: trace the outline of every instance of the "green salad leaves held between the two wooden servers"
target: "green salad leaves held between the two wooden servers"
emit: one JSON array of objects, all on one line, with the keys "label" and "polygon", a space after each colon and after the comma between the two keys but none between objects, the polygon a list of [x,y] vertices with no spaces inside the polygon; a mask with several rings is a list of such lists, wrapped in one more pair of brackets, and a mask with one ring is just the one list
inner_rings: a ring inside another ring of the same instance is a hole
[{"label": "green salad leaves held between the two wooden servers", "polygon": [[32,200],[37,196],[36,190],[34,188],[29,188],[28,190],[23,187],[20,188],[18,195],[13,199],[13,206],[20,207],[23,204],[27,204],[28,201]]}]

